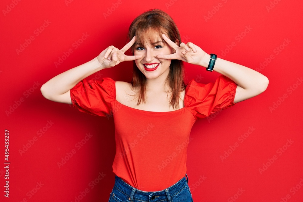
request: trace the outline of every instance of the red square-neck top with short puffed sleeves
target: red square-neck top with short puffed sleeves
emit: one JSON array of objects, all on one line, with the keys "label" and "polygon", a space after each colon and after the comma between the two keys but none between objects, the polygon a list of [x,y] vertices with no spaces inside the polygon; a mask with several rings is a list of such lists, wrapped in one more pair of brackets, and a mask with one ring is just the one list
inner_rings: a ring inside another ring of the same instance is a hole
[{"label": "red square-neck top with short puffed sleeves", "polygon": [[83,79],[70,94],[79,111],[113,116],[113,172],[139,190],[160,191],[185,177],[186,150],[195,121],[235,105],[236,87],[224,75],[208,84],[192,79],[185,89],[185,107],[168,112],[144,111],[119,103],[112,78]]}]

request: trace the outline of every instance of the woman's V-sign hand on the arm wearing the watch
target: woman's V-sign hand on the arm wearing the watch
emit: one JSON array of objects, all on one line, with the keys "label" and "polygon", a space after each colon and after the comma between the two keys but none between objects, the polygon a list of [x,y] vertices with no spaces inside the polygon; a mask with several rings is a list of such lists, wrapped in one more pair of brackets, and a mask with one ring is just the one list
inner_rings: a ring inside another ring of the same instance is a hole
[{"label": "woman's V-sign hand on the arm wearing the watch", "polygon": [[170,55],[157,55],[157,58],[159,59],[182,60],[194,65],[200,65],[203,57],[206,56],[205,51],[191,42],[188,42],[187,44],[182,42],[180,46],[178,46],[165,34],[162,34],[162,37],[166,43],[174,49],[174,53]]}]

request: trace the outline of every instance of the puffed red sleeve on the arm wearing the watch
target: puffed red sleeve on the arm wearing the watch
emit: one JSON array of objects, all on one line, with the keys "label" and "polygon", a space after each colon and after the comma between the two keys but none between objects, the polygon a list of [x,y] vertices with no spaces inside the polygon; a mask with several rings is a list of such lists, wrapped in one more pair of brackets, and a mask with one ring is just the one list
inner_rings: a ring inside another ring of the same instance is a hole
[{"label": "puffed red sleeve on the arm wearing the watch", "polygon": [[186,86],[185,104],[195,119],[230,108],[234,103],[237,84],[221,75],[215,83],[202,84],[192,79]]}]

